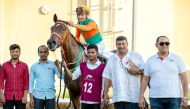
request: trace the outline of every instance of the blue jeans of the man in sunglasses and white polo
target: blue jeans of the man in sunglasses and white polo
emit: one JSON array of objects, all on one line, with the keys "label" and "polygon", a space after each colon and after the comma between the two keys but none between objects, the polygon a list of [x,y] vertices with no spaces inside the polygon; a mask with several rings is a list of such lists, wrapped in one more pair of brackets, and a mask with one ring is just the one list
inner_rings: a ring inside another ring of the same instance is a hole
[{"label": "blue jeans of the man in sunglasses and white polo", "polygon": [[181,98],[150,98],[151,109],[180,109]]}]

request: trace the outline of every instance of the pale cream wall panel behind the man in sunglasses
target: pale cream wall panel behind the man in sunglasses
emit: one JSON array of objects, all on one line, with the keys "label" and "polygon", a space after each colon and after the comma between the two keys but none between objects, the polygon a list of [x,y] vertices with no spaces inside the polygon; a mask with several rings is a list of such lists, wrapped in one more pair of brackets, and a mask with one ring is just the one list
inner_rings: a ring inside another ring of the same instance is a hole
[{"label": "pale cream wall panel behind the man in sunglasses", "polygon": [[[174,34],[174,0],[135,0],[135,51],[145,60],[156,53],[156,38]],[[171,48],[173,49],[173,48]]]}]

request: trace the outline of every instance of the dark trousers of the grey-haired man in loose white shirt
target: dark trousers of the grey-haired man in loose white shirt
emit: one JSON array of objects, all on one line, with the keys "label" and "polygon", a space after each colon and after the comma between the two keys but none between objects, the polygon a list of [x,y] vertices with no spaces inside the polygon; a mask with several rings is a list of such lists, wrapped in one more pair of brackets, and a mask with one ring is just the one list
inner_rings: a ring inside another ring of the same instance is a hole
[{"label": "dark trousers of the grey-haired man in loose white shirt", "polygon": [[140,109],[138,103],[131,102],[116,102],[114,107],[115,109]]}]

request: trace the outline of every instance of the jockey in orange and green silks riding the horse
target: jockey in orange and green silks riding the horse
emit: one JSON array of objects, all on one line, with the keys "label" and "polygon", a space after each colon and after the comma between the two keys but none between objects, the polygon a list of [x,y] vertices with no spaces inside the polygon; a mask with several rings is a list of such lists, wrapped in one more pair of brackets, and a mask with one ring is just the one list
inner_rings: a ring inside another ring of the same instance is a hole
[{"label": "jockey in orange and green silks riding the horse", "polygon": [[86,44],[96,44],[98,46],[98,52],[102,54],[105,49],[102,35],[95,21],[88,18],[90,14],[89,8],[83,5],[79,6],[76,8],[76,14],[78,23],[68,22],[68,25],[76,28],[76,40],[80,42],[80,35],[82,34]]}]

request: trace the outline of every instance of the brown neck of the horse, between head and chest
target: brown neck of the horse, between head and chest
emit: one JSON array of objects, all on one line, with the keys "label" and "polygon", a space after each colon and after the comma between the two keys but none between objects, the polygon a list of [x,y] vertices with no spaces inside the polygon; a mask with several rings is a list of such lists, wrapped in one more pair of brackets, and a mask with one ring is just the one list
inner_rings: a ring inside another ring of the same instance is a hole
[{"label": "brown neck of the horse, between head and chest", "polygon": [[74,62],[80,54],[80,45],[70,32],[67,33],[67,36],[67,40],[63,45],[63,49],[65,50],[65,58],[68,62]]}]

